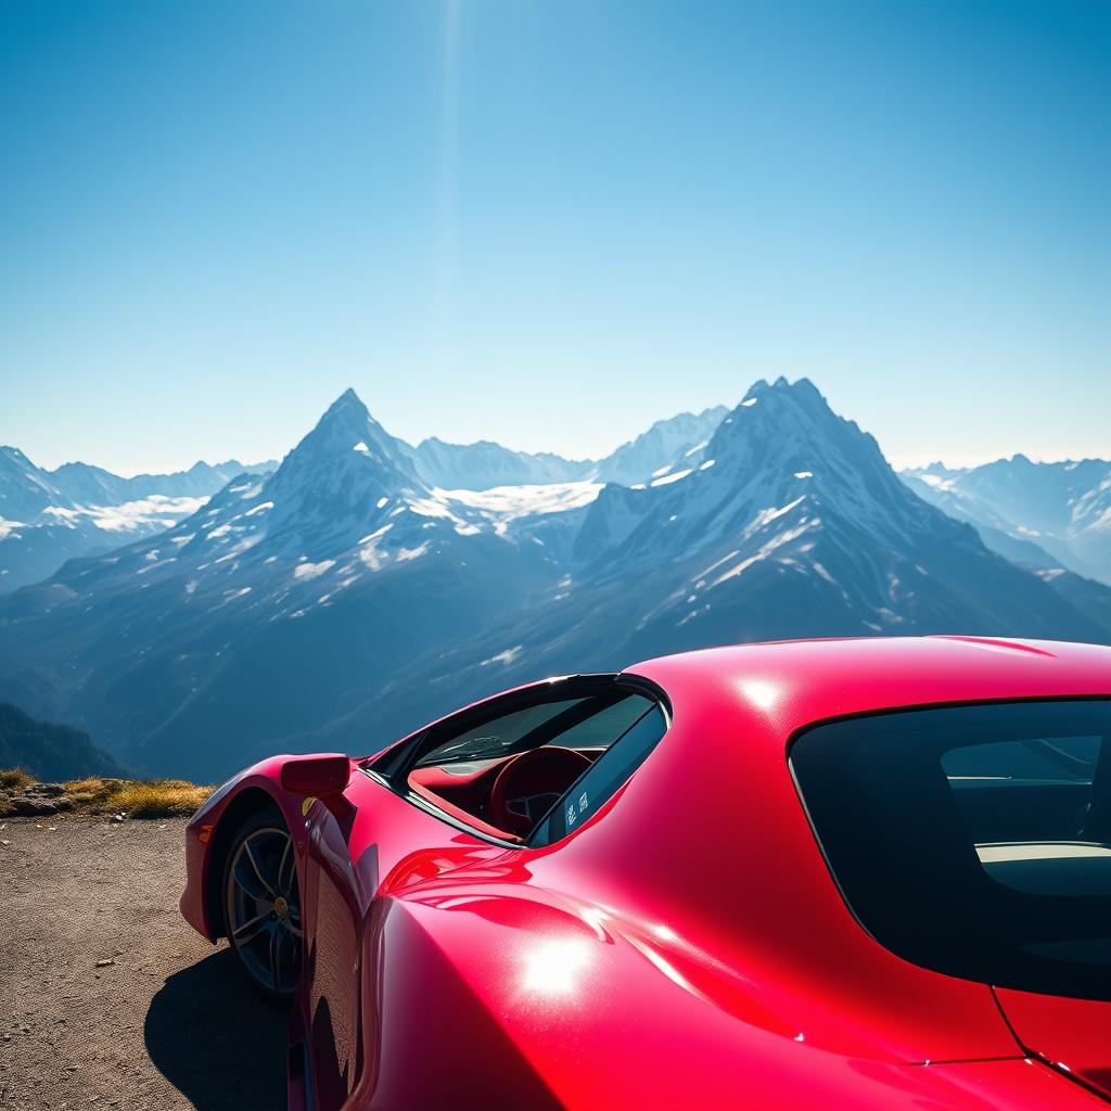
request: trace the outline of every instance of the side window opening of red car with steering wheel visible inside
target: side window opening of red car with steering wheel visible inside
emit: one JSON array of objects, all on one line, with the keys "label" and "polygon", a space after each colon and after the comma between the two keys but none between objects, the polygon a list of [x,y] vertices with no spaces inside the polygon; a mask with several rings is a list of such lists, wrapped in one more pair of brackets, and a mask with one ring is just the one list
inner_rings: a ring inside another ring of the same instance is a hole
[{"label": "side window opening of red car with steering wheel visible inside", "polygon": [[[615,677],[572,679],[438,723],[393,779],[403,775],[418,799],[480,832],[523,841],[557,805],[565,828],[593,814],[665,729],[665,712],[648,692]],[[607,758],[619,745],[623,755]]]}]

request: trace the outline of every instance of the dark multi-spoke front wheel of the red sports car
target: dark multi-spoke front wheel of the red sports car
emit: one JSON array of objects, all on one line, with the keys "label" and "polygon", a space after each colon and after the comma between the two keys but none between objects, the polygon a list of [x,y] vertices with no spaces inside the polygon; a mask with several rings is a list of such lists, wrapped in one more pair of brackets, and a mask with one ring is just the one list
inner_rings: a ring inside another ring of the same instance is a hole
[{"label": "dark multi-spoke front wheel of the red sports car", "polygon": [[228,941],[247,979],[288,999],[301,980],[301,892],[293,840],[277,814],[258,814],[240,829],[223,892]]}]

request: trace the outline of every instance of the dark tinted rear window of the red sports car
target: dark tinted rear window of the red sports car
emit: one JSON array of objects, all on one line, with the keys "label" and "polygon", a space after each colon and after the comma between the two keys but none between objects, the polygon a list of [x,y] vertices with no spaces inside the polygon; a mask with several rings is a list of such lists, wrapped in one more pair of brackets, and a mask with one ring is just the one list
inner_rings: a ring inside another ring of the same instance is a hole
[{"label": "dark tinted rear window of the red sports car", "polygon": [[881,944],[950,975],[1111,999],[1111,703],[855,718],[791,748],[814,833]]}]

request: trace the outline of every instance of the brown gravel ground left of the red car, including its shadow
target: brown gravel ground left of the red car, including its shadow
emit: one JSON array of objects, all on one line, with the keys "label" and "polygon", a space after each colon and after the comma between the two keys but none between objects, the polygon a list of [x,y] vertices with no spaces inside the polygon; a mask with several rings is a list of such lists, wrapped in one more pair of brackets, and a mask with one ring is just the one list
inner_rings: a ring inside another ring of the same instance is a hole
[{"label": "brown gravel ground left of the red car, including its shadow", "polygon": [[286,1105],[284,1012],[178,911],[184,824],[0,819],[0,1108]]}]

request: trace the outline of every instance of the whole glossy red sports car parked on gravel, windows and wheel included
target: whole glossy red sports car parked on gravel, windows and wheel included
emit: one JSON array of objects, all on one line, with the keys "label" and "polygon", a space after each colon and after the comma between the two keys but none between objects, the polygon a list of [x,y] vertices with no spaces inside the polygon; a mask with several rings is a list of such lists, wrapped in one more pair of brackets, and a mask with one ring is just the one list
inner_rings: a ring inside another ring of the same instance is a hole
[{"label": "whole glossy red sports car parked on gravel, windows and wheel included", "polygon": [[714,649],[274,757],[181,900],[294,1109],[1111,1100],[1111,649]]}]

